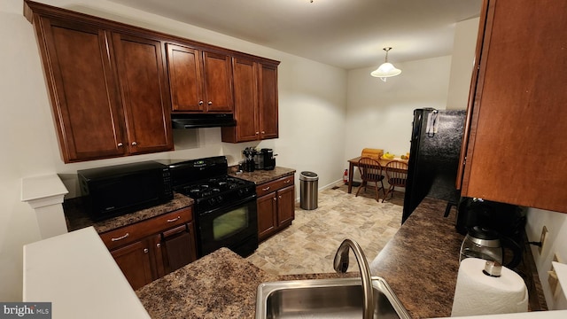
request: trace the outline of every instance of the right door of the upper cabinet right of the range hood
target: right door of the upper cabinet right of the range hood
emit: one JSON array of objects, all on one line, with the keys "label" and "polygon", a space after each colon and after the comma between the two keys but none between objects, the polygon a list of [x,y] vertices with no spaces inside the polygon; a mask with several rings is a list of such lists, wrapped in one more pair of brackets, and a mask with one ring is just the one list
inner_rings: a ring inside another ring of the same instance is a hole
[{"label": "right door of the upper cabinet right of the range hood", "polygon": [[260,138],[276,138],[277,126],[277,66],[260,64]]}]

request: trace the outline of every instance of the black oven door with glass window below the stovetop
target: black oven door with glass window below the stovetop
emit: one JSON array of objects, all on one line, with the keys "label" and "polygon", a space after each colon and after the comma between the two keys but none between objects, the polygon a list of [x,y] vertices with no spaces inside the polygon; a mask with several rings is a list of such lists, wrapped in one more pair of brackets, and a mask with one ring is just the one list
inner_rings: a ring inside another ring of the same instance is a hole
[{"label": "black oven door with glass window below the stovetop", "polygon": [[258,248],[256,195],[198,213],[199,257],[227,247],[245,257]]}]

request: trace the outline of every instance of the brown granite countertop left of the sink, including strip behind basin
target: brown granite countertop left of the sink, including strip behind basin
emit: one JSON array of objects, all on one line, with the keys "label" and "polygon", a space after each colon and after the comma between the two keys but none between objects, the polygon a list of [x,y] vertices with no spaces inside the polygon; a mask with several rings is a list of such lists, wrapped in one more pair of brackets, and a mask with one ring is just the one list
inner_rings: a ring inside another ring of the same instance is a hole
[{"label": "brown granite countertop left of the sink, including strip behind basin", "polygon": [[261,283],[352,276],[358,274],[277,276],[221,248],[146,284],[136,294],[152,318],[254,318]]}]

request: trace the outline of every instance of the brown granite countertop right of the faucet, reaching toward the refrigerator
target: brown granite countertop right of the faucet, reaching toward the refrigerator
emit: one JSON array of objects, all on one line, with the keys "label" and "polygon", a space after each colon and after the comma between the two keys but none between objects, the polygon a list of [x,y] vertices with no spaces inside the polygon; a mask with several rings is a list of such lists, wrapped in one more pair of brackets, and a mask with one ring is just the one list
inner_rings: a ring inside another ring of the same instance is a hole
[{"label": "brown granite countertop right of the faucet, reaching toward the refrigerator", "polygon": [[[453,307],[464,236],[454,217],[443,217],[447,202],[425,198],[370,268],[383,277],[413,318],[448,317]],[[533,268],[532,268],[533,267]],[[530,294],[530,309],[547,310],[532,254],[524,250],[517,272]]]}]

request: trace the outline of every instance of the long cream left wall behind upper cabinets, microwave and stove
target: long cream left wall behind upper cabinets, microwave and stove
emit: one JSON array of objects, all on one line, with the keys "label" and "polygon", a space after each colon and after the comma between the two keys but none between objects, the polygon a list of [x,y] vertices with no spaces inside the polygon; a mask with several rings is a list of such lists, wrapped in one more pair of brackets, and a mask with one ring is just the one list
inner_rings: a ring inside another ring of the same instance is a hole
[{"label": "long cream left wall behind upper cabinets, microwave and stove", "polygon": [[72,197],[76,194],[77,169],[214,155],[226,155],[232,165],[241,159],[246,146],[258,145],[275,149],[278,166],[315,171],[320,186],[340,179],[345,144],[345,70],[106,1],[41,2],[282,61],[278,68],[280,138],[226,144],[221,143],[221,128],[182,130],[174,132],[175,152],[64,164],[33,27],[22,15],[22,0],[0,2],[0,38],[5,44],[0,51],[0,300],[21,300],[22,245],[39,239],[35,215],[19,199],[22,177],[58,173]]}]

